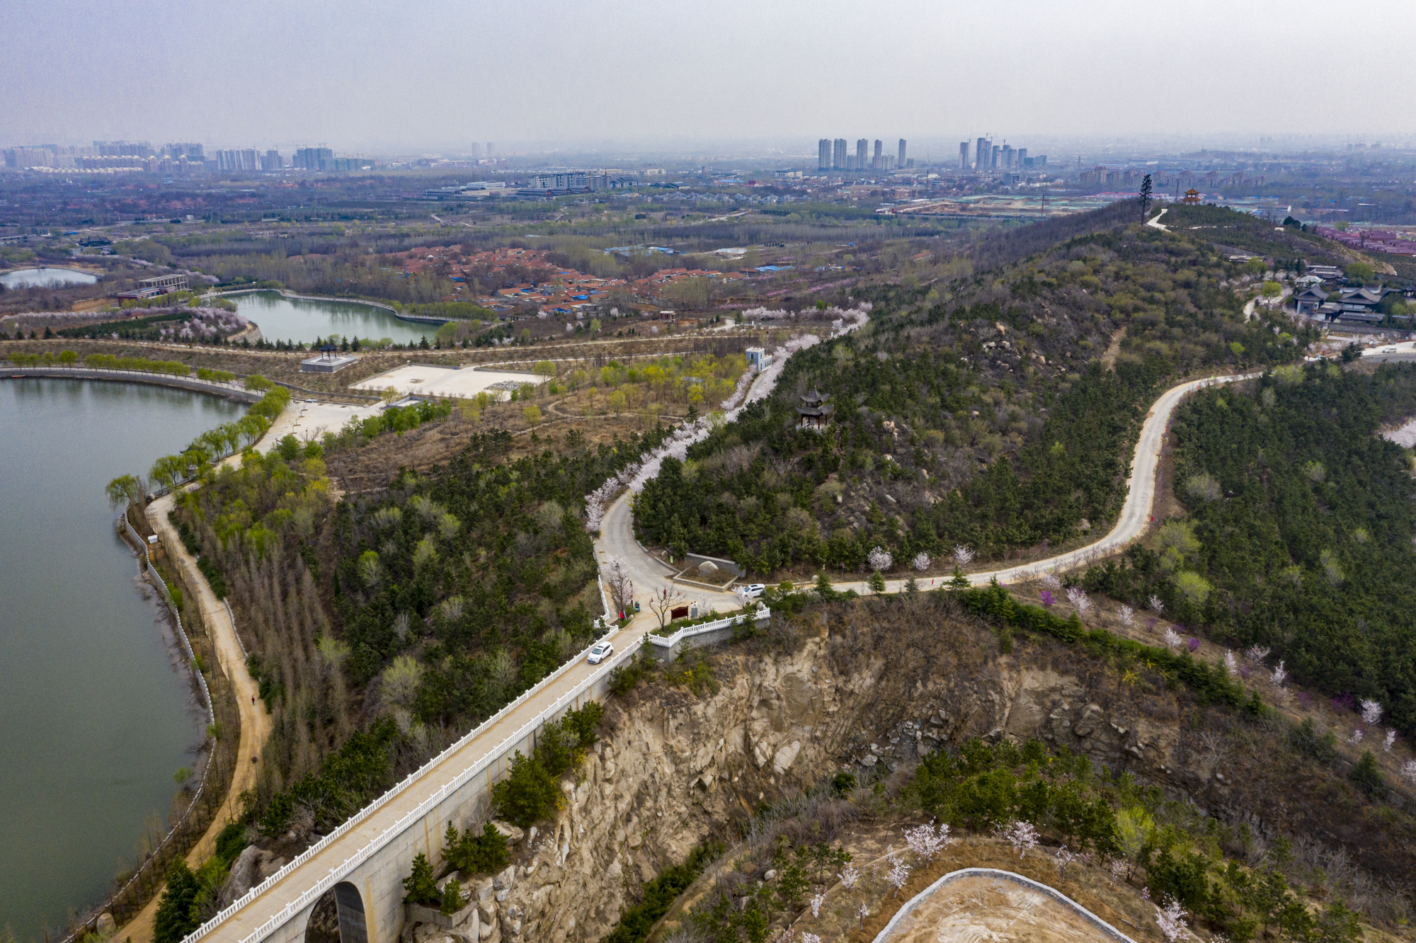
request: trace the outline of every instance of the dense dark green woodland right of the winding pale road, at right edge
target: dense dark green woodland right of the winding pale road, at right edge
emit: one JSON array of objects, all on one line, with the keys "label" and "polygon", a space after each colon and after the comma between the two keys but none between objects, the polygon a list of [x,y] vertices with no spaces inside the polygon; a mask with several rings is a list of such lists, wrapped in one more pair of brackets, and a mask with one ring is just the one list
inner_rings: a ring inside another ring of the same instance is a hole
[{"label": "dense dark green woodland right of the winding pale road, at right edge", "polygon": [[1151,593],[1233,647],[1273,648],[1297,680],[1374,698],[1416,729],[1416,484],[1376,435],[1416,413],[1416,367],[1276,371],[1187,401],[1174,422],[1188,515],[1089,588]]}]

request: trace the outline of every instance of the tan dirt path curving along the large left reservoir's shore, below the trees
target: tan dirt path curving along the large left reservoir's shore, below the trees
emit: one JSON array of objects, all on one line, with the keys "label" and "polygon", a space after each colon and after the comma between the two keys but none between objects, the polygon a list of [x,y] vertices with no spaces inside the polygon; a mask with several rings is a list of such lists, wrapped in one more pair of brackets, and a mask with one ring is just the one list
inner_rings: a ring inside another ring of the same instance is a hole
[{"label": "tan dirt path curving along the large left reservoir's shore, below the trees", "polygon": [[[147,505],[147,520],[161,537],[173,565],[181,571],[187,585],[197,590],[197,603],[201,606],[202,622],[211,631],[217,661],[222,673],[231,678],[236,694],[236,708],[241,711],[241,746],[236,752],[236,769],[231,777],[231,789],[227,790],[227,799],[217,810],[207,833],[187,852],[187,864],[195,869],[212,855],[217,847],[217,834],[239,813],[241,793],[255,789],[256,773],[261,769],[256,760],[265,742],[270,738],[270,715],[266,714],[265,704],[256,697],[258,685],[251,673],[246,671],[246,656],[241,650],[241,640],[236,637],[236,627],[231,622],[227,606],[211,592],[211,586],[197,569],[197,561],[181,545],[181,539],[167,520],[171,507],[171,496],[157,498]],[[149,943],[153,939],[153,919],[157,915],[160,899],[161,891],[126,926],[119,927],[115,939]]]}]

